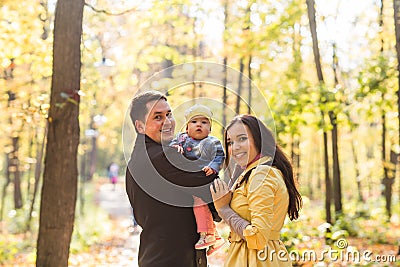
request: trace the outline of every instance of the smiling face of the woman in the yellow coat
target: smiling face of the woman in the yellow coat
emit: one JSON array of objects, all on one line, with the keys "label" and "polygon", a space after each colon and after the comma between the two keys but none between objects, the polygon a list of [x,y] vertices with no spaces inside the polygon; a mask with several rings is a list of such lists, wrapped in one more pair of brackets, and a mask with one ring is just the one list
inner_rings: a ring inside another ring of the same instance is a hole
[{"label": "smiling face of the woman in the yellow coat", "polygon": [[236,164],[246,167],[259,153],[249,128],[241,122],[233,124],[227,131],[228,154]]}]

